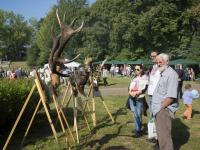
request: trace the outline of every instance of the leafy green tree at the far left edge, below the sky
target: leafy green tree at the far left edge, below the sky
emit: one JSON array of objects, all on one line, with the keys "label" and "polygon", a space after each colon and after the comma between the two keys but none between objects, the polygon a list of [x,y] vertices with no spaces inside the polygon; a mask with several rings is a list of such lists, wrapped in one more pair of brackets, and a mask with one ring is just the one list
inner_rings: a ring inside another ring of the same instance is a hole
[{"label": "leafy green tree at the far left edge, below the sky", "polygon": [[0,11],[0,57],[24,58],[30,36],[31,27],[21,15]]}]

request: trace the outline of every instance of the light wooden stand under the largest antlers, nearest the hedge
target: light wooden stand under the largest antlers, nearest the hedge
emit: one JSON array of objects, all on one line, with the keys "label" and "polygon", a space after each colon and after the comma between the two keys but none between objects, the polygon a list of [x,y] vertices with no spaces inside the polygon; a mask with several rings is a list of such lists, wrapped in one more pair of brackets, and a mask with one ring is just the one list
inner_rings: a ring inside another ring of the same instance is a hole
[{"label": "light wooden stand under the largest antlers, nearest the hedge", "polygon": [[[39,106],[42,104],[42,106],[43,106],[43,108],[44,108],[44,110],[45,110],[45,113],[46,113],[46,116],[47,116],[49,125],[50,125],[50,127],[51,127],[52,132],[53,132],[53,136],[54,136],[54,138],[55,138],[55,140],[56,140],[56,143],[58,144],[58,147],[60,147],[60,146],[59,146],[59,142],[58,142],[57,132],[56,132],[55,126],[54,126],[54,124],[53,124],[53,122],[52,122],[51,115],[50,115],[50,113],[49,113],[49,110],[48,110],[48,107],[47,107],[47,104],[46,104],[46,101],[47,101],[47,99],[46,99],[46,94],[45,94],[44,88],[42,87],[41,80],[40,80],[40,78],[39,78],[39,76],[38,76],[37,71],[35,72],[35,80],[34,80],[34,81],[35,81],[35,83],[34,83],[32,89],[31,89],[31,91],[30,91],[30,93],[29,93],[27,99],[25,100],[25,103],[24,103],[24,105],[23,105],[23,107],[22,107],[22,109],[21,109],[21,111],[20,111],[20,113],[19,113],[19,115],[18,115],[18,117],[17,117],[15,123],[14,123],[14,126],[13,126],[13,128],[12,128],[12,130],[11,130],[11,132],[10,132],[10,134],[9,134],[9,136],[8,136],[8,138],[7,138],[7,140],[6,140],[6,143],[5,143],[4,147],[3,147],[3,150],[6,150],[6,149],[7,149],[7,146],[8,146],[8,144],[9,144],[9,142],[10,142],[10,139],[11,139],[11,137],[12,137],[12,135],[13,135],[13,133],[14,133],[14,131],[15,131],[15,129],[16,129],[16,127],[17,127],[17,125],[18,125],[18,123],[19,123],[19,121],[20,121],[20,119],[21,119],[23,113],[24,113],[24,110],[25,110],[25,108],[27,107],[27,104],[29,103],[29,100],[30,100],[30,98],[31,98],[31,96],[32,96],[32,94],[33,94],[33,92],[34,92],[35,89],[38,91],[39,96],[40,96],[40,99],[39,99],[38,104],[37,104],[37,106],[36,106],[36,108],[35,108],[35,111],[34,111],[34,113],[33,113],[33,115],[32,115],[32,118],[31,118],[31,120],[30,120],[30,122],[29,122],[29,125],[28,125],[28,127],[27,127],[27,130],[26,130],[26,132],[25,132],[25,134],[24,134],[24,137],[23,137],[23,140],[22,140],[21,145],[23,145],[23,142],[24,142],[24,140],[25,140],[25,138],[26,138],[26,136],[27,136],[27,134],[28,134],[28,131],[29,131],[31,125],[32,125],[32,122],[33,122],[34,118],[35,118],[35,115],[36,115],[36,113],[38,112]],[[67,148],[68,148],[68,149],[71,149],[71,148],[70,148],[70,145],[69,145],[68,137],[67,137],[67,131],[66,131],[65,128],[64,128],[63,120],[64,120],[64,122],[65,122],[65,125],[66,125],[67,128],[68,128],[68,131],[69,131],[69,133],[70,133],[71,138],[72,138],[73,141],[75,142],[74,137],[73,137],[73,135],[72,135],[72,132],[70,131],[70,128],[69,128],[69,124],[68,124],[68,122],[67,122],[67,119],[66,119],[66,117],[65,117],[65,115],[64,115],[64,113],[63,113],[63,111],[62,111],[62,109],[59,107],[59,105],[58,105],[58,103],[57,103],[57,101],[56,101],[56,97],[55,97],[54,95],[53,95],[53,101],[54,101],[54,105],[55,105],[55,107],[56,107],[56,112],[57,112],[57,114],[58,114],[58,118],[59,118],[59,121],[60,121],[60,124],[61,124],[61,127],[62,127],[62,132],[63,132],[63,134],[64,134],[64,136],[65,136],[65,141],[66,141],[66,144],[67,144]],[[62,119],[63,119],[63,120],[62,120]]]}]

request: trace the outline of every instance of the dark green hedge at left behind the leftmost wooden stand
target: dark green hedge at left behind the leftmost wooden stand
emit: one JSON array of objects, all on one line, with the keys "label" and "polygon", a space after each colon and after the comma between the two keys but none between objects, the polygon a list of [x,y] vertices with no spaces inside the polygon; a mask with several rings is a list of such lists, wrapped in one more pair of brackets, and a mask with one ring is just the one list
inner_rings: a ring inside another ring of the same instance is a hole
[{"label": "dark green hedge at left behind the leftmost wooden stand", "polygon": [[[0,125],[16,120],[33,83],[30,79],[0,79]],[[26,108],[25,116],[32,114],[38,99],[38,93],[34,92]]]}]

